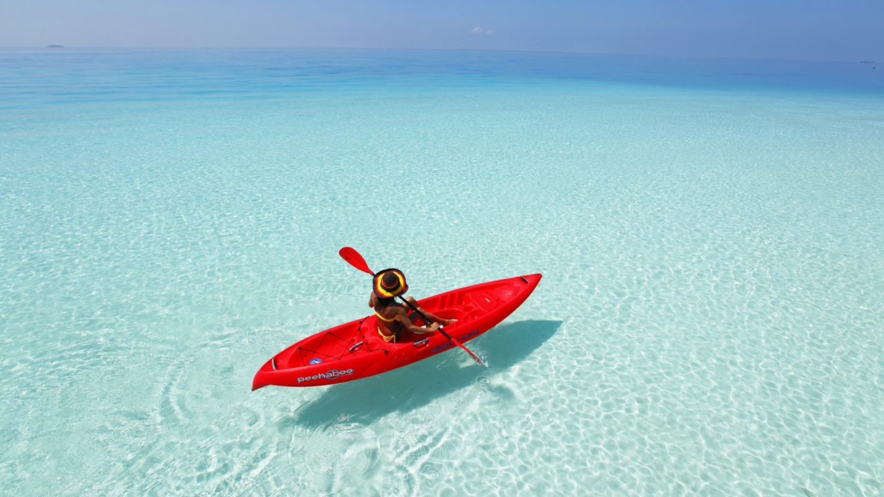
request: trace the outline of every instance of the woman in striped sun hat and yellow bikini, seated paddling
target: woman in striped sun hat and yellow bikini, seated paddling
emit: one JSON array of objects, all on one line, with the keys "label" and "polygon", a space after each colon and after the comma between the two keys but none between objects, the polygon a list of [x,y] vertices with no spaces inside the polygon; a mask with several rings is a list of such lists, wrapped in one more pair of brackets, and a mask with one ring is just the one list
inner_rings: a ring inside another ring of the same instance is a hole
[{"label": "woman in striped sun hat and yellow bikini, seated paddling", "polygon": [[433,333],[438,330],[439,325],[450,325],[453,319],[442,319],[423,310],[417,305],[415,297],[408,297],[415,309],[423,312],[423,315],[431,320],[429,326],[417,326],[408,315],[408,308],[396,302],[396,297],[408,292],[408,283],[405,281],[405,275],[398,269],[385,269],[378,271],[372,281],[371,296],[369,298],[369,307],[374,308],[377,316],[377,333],[381,335],[384,341],[396,342],[396,337],[405,331],[411,333]]}]

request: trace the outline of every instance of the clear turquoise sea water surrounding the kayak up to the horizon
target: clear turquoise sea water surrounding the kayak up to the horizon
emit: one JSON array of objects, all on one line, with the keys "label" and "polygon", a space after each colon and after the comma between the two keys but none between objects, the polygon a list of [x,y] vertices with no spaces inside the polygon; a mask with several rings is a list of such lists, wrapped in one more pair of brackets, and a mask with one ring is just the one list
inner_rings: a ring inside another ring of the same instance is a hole
[{"label": "clear turquoise sea water surrounding the kayak up to the horizon", "polygon": [[[884,76],[484,52],[0,52],[16,495],[880,495]],[[471,345],[270,356],[543,272]]]}]

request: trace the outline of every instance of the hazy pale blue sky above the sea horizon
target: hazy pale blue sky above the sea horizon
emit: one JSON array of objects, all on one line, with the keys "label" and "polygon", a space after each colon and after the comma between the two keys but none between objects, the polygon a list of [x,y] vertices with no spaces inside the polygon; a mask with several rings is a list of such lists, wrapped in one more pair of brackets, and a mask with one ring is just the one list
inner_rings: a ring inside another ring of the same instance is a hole
[{"label": "hazy pale blue sky above the sea horizon", "polygon": [[884,62],[884,0],[0,0],[0,46],[49,44]]}]

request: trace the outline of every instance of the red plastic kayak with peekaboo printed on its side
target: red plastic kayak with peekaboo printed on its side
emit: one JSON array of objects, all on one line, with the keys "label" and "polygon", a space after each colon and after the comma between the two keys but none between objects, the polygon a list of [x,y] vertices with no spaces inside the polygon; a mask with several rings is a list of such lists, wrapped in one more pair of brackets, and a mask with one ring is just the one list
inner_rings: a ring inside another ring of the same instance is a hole
[{"label": "red plastic kayak with peekaboo printed on its side", "polygon": [[[418,301],[425,310],[444,319],[445,327],[461,343],[492,329],[528,299],[540,274],[499,279],[458,288]],[[422,323],[415,323],[423,325]],[[295,343],[267,361],[255,374],[252,390],[263,386],[322,386],[353,381],[415,363],[455,347],[442,333],[400,333],[396,343],[377,333],[371,315],[335,326]]]}]

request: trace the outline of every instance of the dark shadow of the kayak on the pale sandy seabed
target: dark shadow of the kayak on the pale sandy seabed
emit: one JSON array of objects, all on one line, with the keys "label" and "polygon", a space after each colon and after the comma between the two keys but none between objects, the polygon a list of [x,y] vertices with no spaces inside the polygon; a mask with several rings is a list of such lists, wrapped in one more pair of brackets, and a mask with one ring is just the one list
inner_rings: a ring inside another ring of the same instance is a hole
[{"label": "dark shadow of the kayak on the pale sandy seabed", "polygon": [[[561,321],[518,321],[499,325],[468,343],[484,350],[495,372],[506,371],[526,359],[559,330]],[[346,418],[350,423],[371,424],[398,411],[408,412],[471,385],[485,371],[475,364],[461,367],[453,348],[398,370],[329,386],[316,401],[301,406],[284,421],[319,428]],[[483,357],[483,359],[485,359]]]}]

